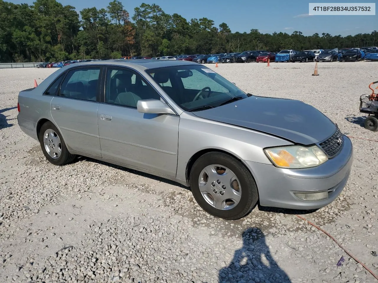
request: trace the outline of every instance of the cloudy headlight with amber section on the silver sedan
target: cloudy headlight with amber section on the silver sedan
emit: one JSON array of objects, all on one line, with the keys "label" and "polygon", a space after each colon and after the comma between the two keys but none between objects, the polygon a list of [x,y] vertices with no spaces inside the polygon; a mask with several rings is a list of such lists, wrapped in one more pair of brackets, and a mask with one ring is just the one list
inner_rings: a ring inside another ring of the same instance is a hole
[{"label": "cloudy headlight with amber section on the silver sedan", "polygon": [[321,165],[328,160],[327,155],[316,145],[280,146],[264,149],[274,165],[280,168],[300,169]]}]

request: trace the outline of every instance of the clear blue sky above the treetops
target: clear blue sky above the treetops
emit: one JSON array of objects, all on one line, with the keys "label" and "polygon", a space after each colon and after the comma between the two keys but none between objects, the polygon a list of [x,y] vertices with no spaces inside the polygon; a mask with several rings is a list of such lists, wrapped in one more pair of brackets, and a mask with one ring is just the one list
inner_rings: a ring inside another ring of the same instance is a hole
[{"label": "clear blue sky above the treetops", "polygon": [[[32,5],[34,0],[8,0],[13,3],[28,3]],[[58,0],[59,1],[59,0]],[[60,0],[63,5],[74,6],[79,12],[82,8],[95,6],[98,9],[106,8],[109,0]],[[304,35],[312,35],[328,32],[331,35],[355,35],[359,33],[371,33],[378,30],[378,14],[376,15],[316,15],[308,16],[308,1],[291,0],[279,1],[246,1],[246,0],[134,0],[121,1],[130,17],[134,8],[141,3],[156,3],[167,14],[180,14],[187,20],[191,18],[207,17],[215,22],[215,26],[222,22],[228,24],[232,32],[249,32],[251,29],[259,29],[262,33],[301,31]],[[179,2],[179,3],[178,3]],[[311,1],[312,3],[324,3],[326,1]],[[328,1],[332,2],[332,1]],[[344,3],[362,3],[361,1],[345,1]],[[369,1],[366,1],[369,2]],[[365,3],[366,3],[365,2]],[[372,1],[370,1],[372,2]],[[258,4],[261,3],[261,4]],[[264,4],[266,3],[266,5]],[[378,8],[378,7],[377,7]],[[266,12],[264,12],[266,11]],[[307,15],[306,15],[307,14]]]}]

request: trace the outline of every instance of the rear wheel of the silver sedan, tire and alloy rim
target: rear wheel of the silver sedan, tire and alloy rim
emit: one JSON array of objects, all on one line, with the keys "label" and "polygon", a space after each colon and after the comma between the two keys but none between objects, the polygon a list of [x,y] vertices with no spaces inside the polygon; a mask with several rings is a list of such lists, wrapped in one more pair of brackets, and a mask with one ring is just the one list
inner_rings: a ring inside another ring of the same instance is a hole
[{"label": "rear wheel of the silver sedan, tire and alloy rim", "polygon": [[76,157],[76,155],[70,154],[62,135],[51,122],[42,125],[39,131],[39,143],[46,159],[54,165],[65,165]]}]

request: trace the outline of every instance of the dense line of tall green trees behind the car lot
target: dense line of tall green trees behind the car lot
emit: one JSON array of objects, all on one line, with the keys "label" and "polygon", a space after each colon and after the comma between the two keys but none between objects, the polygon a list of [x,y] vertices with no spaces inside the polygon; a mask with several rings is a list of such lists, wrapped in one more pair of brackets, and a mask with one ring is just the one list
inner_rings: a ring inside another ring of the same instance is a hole
[{"label": "dense line of tall green trees behind the car lot", "polygon": [[129,12],[114,0],[107,9],[73,6],[56,0],[33,5],[0,0],[0,62],[46,62],[176,54],[212,54],[246,50],[352,48],[378,45],[378,32],[342,37],[273,32],[231,32],[209,18],[186,20],[159,5],[142,3]]}]

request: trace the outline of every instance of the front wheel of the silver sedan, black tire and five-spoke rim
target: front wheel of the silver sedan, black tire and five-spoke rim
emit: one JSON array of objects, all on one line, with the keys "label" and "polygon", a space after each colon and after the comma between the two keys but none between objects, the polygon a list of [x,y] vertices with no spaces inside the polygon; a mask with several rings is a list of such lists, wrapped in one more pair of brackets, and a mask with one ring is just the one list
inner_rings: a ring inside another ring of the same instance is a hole
[{"label": "front wheel of the silver sedan, black tire and five-spoke rim", "polygon": [[201,208],[215,217],[236,220],[244,217],[259,199],[248,169],[234,157],[209,152],[198,158],[190,172],[192,194]]}]

